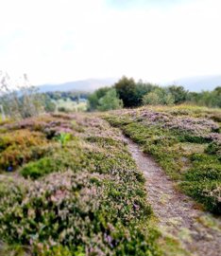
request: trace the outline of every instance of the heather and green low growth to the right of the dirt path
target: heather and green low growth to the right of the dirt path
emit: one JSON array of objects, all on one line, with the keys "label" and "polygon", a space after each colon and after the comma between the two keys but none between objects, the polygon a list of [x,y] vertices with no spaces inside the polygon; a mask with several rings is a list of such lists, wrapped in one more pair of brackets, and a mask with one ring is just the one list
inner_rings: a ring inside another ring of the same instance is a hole
[{"label": "heather and green low growth to the right of the dirt path", "polygon": [[221,111],[192,106],[143,107],[105,116],[142,145],[179,188],[221,213]]}]

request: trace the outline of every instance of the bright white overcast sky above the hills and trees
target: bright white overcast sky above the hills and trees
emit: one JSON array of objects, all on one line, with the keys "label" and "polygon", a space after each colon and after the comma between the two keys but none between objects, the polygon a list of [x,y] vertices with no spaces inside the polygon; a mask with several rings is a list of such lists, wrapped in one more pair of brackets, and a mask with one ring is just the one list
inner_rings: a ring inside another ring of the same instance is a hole
[{"label": "bright white overcast sky above the hills and trees", "polygon": [[33,84],[221,74],[221,0],[0,0],[0,70]]}]

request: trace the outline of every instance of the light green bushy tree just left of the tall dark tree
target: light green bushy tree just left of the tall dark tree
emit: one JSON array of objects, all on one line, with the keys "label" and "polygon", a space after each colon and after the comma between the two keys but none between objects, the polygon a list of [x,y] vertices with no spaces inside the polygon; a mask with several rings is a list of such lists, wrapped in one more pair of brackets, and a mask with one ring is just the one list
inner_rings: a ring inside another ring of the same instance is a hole
[{"label": "light green bushy tree just left of the tall dark tree", "polygon": [[111,88],[104,97],[99,99],[97,107],[100,111],[114,110],[123,107],[123,101],[117,96],[116,90]]}]

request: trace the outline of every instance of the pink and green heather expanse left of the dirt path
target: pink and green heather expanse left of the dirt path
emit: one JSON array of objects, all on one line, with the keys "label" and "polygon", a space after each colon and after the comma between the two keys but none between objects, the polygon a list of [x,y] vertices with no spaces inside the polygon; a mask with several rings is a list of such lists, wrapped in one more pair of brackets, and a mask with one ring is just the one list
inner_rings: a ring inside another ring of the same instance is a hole
[{"label": "pink and green heather expanse left of the dirt path", "polygon": [[1,255],[161,254],[143,174],[107,122],[45,115],[0,137]]}]

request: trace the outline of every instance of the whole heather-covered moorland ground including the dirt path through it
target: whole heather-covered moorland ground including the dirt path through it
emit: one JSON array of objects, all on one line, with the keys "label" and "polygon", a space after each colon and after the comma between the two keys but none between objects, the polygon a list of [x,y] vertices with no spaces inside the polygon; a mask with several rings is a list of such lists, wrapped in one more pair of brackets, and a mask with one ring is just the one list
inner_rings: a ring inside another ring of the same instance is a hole
[{"label": "whole heather-covered moorland ground including the dirt path through it", "polygon": [[219,255],[220,132],[192,106],[2,122],[0,255]]}]

